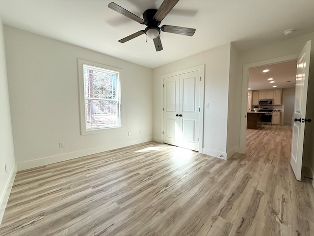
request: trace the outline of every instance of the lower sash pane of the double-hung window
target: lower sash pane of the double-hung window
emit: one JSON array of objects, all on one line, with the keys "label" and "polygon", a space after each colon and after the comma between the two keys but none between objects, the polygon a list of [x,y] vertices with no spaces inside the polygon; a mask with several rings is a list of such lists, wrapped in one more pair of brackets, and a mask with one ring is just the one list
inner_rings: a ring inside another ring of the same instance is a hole
[{"label": "lower sash pane of the double-hung window", "polygon": [[86,100],[87,129],[119,126],[118,102]]}]

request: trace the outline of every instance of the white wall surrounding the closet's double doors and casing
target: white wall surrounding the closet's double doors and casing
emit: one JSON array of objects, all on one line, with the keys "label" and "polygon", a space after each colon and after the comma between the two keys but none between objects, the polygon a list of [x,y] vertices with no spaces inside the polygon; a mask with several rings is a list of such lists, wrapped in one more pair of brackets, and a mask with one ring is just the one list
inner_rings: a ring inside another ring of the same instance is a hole
[{"label": "white wall surrounding the closet's double doors and casing", "polygon": [[161,76],[205,64],[203,152],[226,158],[230,43],[153,69],[153,139],[162,142]]}]

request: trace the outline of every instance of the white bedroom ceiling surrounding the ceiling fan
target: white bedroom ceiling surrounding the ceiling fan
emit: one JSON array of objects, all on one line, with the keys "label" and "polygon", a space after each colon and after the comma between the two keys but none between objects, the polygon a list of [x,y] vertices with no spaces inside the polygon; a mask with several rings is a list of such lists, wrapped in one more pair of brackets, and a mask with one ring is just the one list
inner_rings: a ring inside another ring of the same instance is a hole
[{"label": "white bedroom ceiling surrounding the ceiling fan", "polygon": [[[229,42],[247,50],[314,31],[314,0],[180,0],[161,25],[196,28],[194,36],[161,32],[163,50],[141,35],[145,26],[107,7],[111,0],[0,0],[4,24],[150,68]],[[142,17],[162,0],[115,0]],[[283,31],[295,32],[285,36]]]}]

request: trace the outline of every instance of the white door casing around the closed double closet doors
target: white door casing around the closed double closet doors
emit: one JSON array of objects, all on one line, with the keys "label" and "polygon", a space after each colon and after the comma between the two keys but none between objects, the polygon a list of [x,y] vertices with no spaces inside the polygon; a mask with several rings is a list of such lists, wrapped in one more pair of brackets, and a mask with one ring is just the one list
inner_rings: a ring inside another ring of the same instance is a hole
[{"label": "white door casing around the closed double closet doors", "polygon": [[[161,76],[161,93],[163,94],[163,79],[171,77],[171,76],[176,76],[176,75],[181,75],[193,71],[200,71],[201,74],[201,82],[200,82],[200,97],[199,97],[199,102],[200,102],[200,118],[199,118],[199,136],[200,136],[200,141],[199,141],[199,153],[203,153],[203,126],[204,126],[204,88],[205,88],[205,64],[194,66],[191,68],[171,72],[165,75]],[[163,108],[163,95],[161,95],[161,111]],[[163,112],[161,112],[161,130],[163,130]],[[162,135],[162,142],[163,142],[163,135]]]}]

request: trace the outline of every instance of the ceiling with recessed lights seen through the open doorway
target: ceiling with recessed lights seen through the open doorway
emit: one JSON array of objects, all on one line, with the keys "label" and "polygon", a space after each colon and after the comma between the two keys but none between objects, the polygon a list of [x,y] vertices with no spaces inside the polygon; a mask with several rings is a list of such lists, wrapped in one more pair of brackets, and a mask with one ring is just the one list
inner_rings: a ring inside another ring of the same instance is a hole
[{"label": "ceiling with recessed lights seen through the open doorway", "polygon": [[[268,72],[263,70],[268,69]],[[272,78],[274,83],[270,83]],[[295,87],[296,60],[249,69],[249,85],[252,90],[286,89]],[[273,86],[277,86],[273,88]]]}]

